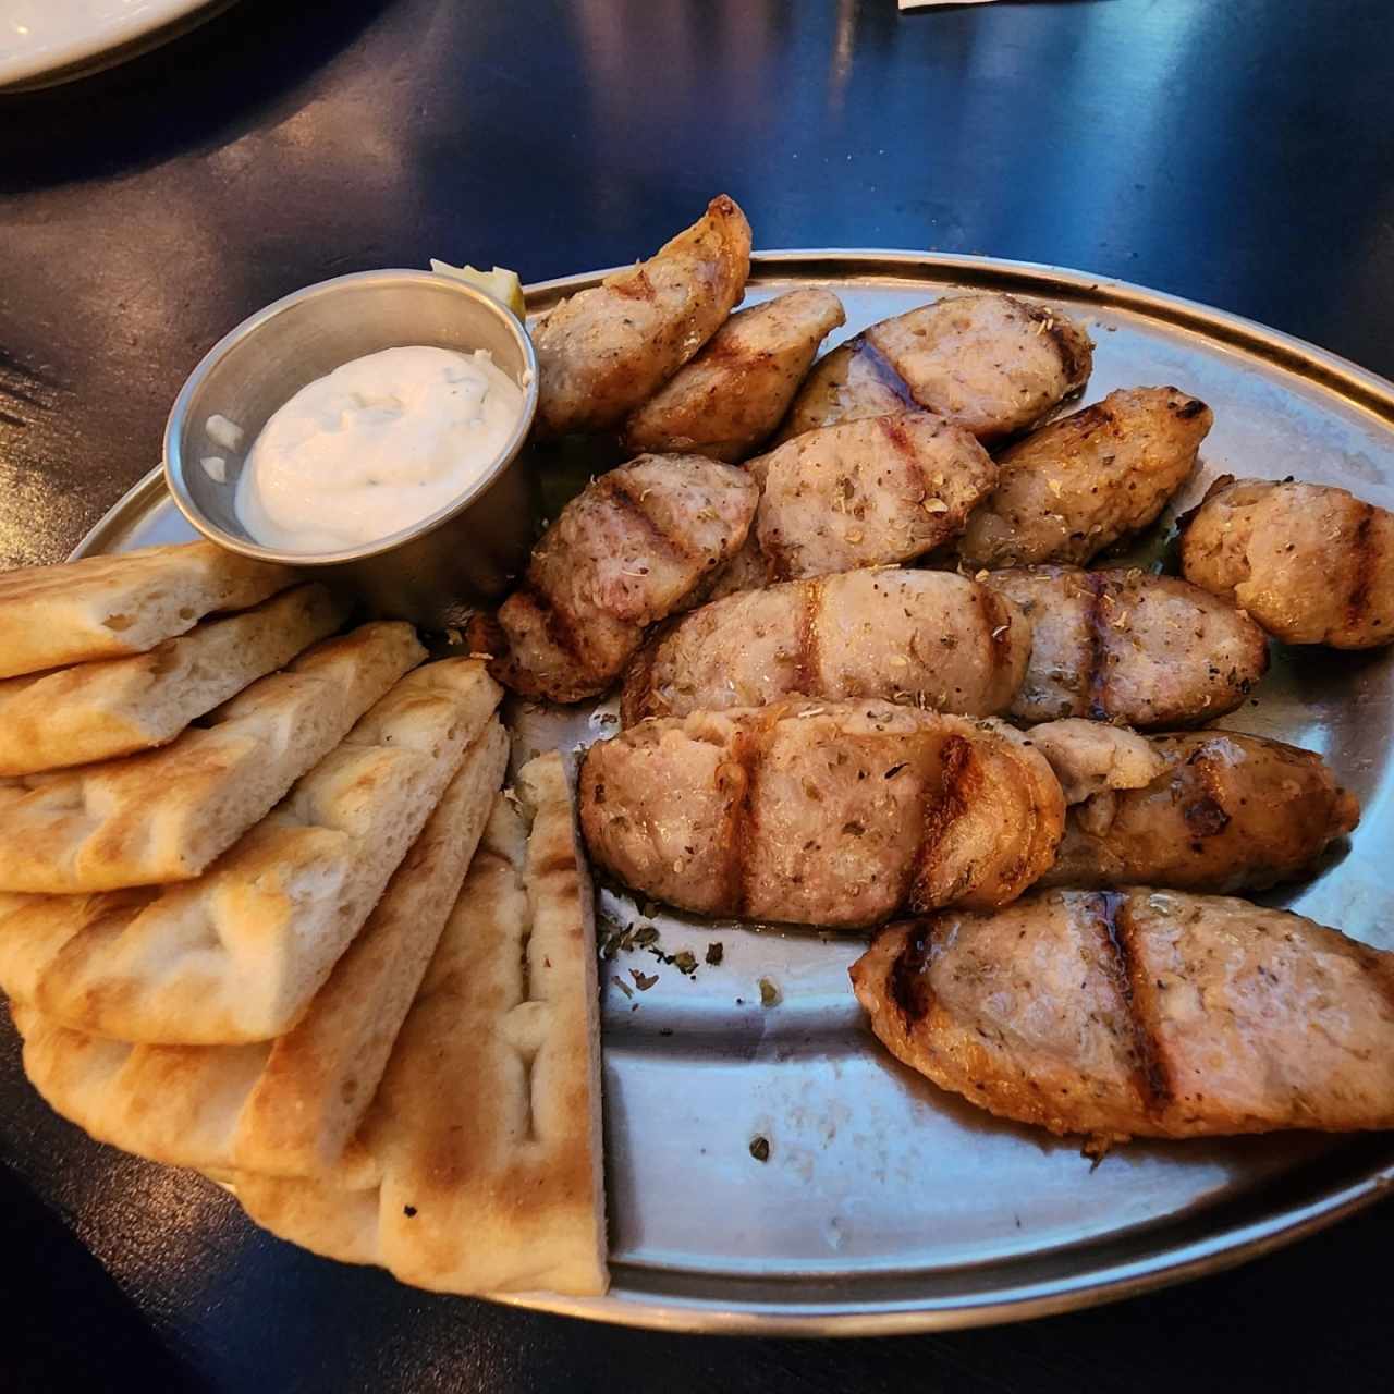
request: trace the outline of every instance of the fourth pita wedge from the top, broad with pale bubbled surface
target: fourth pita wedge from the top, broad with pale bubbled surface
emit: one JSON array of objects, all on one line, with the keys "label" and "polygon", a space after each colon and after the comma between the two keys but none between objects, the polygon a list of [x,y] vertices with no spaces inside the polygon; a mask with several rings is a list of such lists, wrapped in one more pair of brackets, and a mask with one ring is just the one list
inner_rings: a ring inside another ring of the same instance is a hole
[{"label": "fourth pita wedge from the top, broad with pale bubbled surface", "polygon": [[305,1013],[502,689],[478,659],[408,673],[197,881],[0,896],[0,986],[96,1036],[231,1046]]}]

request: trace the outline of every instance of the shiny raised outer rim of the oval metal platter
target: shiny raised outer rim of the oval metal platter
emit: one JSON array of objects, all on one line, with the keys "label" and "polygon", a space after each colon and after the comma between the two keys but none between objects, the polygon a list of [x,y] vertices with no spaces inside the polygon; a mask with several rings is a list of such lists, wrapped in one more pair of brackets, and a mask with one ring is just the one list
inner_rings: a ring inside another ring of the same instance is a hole
[{"label": "shiny raised outer rim of the oval metal platter", "polygon": [[[563,296],[598,284],[613,270],[580,272],[524,287],[528,312],[549,308]],[[839,275],[841,272],[841,275]],[[892,248],[790,248],[751,254],[750,284],[781,280],[821,280],[829,284],[856,277],[861,283],[953,282],[962,286],[1005,289],[1013,293],[1065,300],[1097,308],[1124,309],[1197,333],[1211,343],[1249,354],[1271,368],[1312,383],[1394,431],[1394,383],[1374,372],[1312,344],[1295,335],[1257,321],[1133,282],[1094,276],[1040,262],[1008,261],[949,252],[916,252]],[[138,480],[93,524],[72,549],[70,559],[103,551],[132,517],[144,517],[167,496],[162,467]],[[1373,1139],[1379,1135],[1354,1135]],[[1372,1143],[1373,1144],[1373,1143]],[[1138,1296],[1158,1288],[1236,1267],[1316,1234],[1341,1218],[1394,1192],[1394,1151],[1387,1160],[1317,1188],[1315,1197],[1281,1203],[1274,1213],[1221,1220],[1200,1236],[1165,1250],[1142,1256],[1105,1259],[1096,1267],[1066,1277],[1008,1280],[993,1292],[955,1296],[906,1298],[905,1301],[848,1301],[829,1291],[825,1301],[750,1301],[723,1306],[715,1299],[673,1298],[643,1287],[612,1285],[605,1296],[576,1298],[558,1294],[496,1294],[492,1301],[537,1312],[583,1317],[608,1324],[648,1330],[729,1335],[834,1335],[866,1337],[942,1331],[972,1326],[1083,1310]],[[1197,1217],[1217,1216],[1223,1207]],[[1044,1250],[1041,1250],[1044,1252]],[[995,1264],[984,1264],[991,1269]],[[612,1274],[627,1277],[640,1266],[613,1264]],[[662,1270],[659,1270],[662,1271]],[[680,1270],[669,1270],[679,1273]],[[835,1289],[836,1281],[785,1280]]]}]

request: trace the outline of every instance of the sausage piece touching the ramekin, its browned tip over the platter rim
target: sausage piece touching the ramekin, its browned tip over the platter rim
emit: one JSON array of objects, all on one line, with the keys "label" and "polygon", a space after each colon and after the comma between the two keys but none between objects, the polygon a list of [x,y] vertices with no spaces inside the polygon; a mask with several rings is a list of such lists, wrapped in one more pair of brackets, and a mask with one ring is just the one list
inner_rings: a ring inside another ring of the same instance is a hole
[{"label": "sausage piece touching the ramekin, its browned tip over the platter rim", "polygon": [[721,328],[750,275],[750,224],[722,194],[657,255],[533,328],[539,436],[618,427]]}]

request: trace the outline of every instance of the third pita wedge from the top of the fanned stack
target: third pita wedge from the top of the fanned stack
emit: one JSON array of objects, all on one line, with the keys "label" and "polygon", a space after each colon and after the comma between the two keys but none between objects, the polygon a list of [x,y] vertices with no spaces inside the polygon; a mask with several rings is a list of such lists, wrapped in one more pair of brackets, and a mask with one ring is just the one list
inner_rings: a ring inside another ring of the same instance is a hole
[{"label": "third pita wedge from the top of the fanned stack", "polygon": [[197,877],[422,658],[410,625],[364,625],[160,750],[0,779],[0,889],[70,895]]}]

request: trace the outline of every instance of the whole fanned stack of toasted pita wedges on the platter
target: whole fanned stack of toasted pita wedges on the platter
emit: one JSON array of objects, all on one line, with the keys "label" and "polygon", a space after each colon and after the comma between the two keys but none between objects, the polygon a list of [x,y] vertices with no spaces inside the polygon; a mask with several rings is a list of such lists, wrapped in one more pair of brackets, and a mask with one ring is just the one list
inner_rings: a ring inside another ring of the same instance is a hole
[{"label": "whole fanned stack of toasted pita wedges on the platter", "polygon": [[0,987],[93,1138],[318,1253],[604,1292],[592,892],[556,753],[410,625],[209,544],[0,577]]}]

